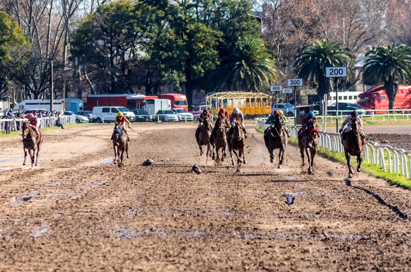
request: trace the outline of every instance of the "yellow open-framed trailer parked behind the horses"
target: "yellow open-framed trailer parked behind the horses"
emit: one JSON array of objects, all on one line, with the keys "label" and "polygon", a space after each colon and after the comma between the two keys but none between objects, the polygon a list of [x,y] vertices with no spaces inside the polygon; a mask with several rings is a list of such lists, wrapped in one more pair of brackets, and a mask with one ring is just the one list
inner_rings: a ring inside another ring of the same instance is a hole
[{"label": "yellow open-framed trailer parked behind the horses", "polygon": [[220,108],[229,113],[239,108],[243,114],[270,114],[271,96],[260,92],[217,92],[207,96],[207,108],[217,115]]}]

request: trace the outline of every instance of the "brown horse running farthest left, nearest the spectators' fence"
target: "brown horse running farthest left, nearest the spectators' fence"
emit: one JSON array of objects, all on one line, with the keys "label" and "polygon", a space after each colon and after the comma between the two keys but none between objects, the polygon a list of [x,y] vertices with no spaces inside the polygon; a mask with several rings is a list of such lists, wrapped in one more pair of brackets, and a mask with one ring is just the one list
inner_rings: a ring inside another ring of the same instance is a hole
[{"label": "brown horse running farthest left, nearest the spectators' fence", "polygon": [[31,125],[27,122],[23,123],[22,126],[22,137],[23,137],[23,150],[24,150],[24,162],[23,165],[26,165],[27,151],[30,154],[31,158],[31,167],[34,164],[34,152],[37,149],[35,166],[39,166],[37,161],[39,160],[40,148],[43,143],[43,133],[39,129],[40,137],[36,139],[36,133],[34,132]]}]

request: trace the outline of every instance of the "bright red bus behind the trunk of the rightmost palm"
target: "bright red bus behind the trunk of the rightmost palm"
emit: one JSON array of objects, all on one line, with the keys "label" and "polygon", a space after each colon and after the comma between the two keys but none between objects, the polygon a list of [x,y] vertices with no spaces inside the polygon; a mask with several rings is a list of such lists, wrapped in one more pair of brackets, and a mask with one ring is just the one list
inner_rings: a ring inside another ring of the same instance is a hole
[{"label": "bright red bus behind the trunk of the rightmost palm", "polygon": [[[411,86],[400,85],[394,100],[394,109],[401,112],[401,109],[408,109],[409,100],[411,99]],[[375,109],[375,113],[388,112],[388,96],[384,86],[372,87],[364,93],[358,95],[359,104],[365,108]]]}]

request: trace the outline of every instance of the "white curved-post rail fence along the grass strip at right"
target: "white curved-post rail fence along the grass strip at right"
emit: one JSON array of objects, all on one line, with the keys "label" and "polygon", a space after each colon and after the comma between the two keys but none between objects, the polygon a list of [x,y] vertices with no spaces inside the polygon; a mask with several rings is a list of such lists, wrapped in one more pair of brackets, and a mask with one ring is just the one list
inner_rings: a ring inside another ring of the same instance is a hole
[{"label": "white curved-post rail fence along the grass strip at right", "polygon": [[[256,118],[255,124],[261,129],[266,129],[266,118]],[[301,126],[287,126],[292,138],[297,138]],[[319,145],[321,147],[343,153],[344,147],[340,133],[320,131]],[[389,145],[380,145],[373,141],[365,141],[363,158],[367,163],[380,166],[384,172],[399,173],[411,179],[411,150],[406,151]]]}]

